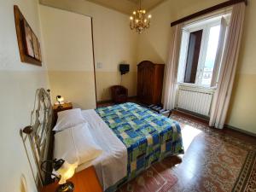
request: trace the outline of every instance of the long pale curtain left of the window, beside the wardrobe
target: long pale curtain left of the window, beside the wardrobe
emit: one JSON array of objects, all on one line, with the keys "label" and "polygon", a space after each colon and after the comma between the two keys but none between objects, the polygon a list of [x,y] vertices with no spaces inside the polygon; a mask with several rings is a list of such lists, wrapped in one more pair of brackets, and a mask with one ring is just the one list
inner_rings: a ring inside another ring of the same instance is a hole
[{"label": "long pale curtain left of the window, beside the wardrobe", "polygon": [[173,37],[169,59],[166,63],[165,87],[163,92],[163,102],[165,109],[173,109],[175,106],[175,96],[177,90],[177,67],[182,36],[182,24],[172,27]]}]

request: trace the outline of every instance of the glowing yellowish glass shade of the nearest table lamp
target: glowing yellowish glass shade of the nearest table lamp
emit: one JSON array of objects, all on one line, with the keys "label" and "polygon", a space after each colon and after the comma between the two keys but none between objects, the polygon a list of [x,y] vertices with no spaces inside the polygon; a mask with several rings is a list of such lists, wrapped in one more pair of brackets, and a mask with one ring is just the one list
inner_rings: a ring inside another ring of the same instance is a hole
[{"label": "glowing yellowish glass shade of the nearest table lamp", "polygon": [[66,183],[67,179],[73,177],[73,174],[77,167],[78,162],[74,164],[69,164],[67,161],[65,161],[61,168],[56,171],[58,174],[61,175],[61,180],[59,181],[59,184],[64,184]]}]

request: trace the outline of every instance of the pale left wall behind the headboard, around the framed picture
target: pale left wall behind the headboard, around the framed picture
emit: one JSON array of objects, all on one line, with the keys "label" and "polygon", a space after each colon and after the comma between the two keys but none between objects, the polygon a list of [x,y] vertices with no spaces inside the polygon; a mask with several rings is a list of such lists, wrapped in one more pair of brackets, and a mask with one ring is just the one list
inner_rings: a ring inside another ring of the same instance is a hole
[{"label": "pale left wall behind the headboard, around the framed picture", "polygon": [[[0,2],[0,191],[34,192],[37,189],[19,131],[30,125],[35,91],[40,87],[49,88],[49,86],[44,64],[43,67],[36,67],[20,62],[14,4],[20,7],[40,41],[38,1],[2,0]],[[26,180],[23,184],[22,177]]]}]

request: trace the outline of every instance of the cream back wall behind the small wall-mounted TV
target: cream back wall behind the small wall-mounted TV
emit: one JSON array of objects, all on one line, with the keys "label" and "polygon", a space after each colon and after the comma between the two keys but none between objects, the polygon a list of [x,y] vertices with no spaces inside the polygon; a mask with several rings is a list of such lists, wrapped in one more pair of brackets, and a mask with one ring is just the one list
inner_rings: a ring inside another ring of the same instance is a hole
[{"label": "cream back wall behind the small wall-mounted TV", "polygon": [[136,96],[138,35],[130,30],[128,15],[84,0],[40,0],[40,2],[92,17],[96,64],[102,63],[102,68],[96,68],[98,101],[109,100],[109,87],[120,84],[118,67],[122,61],[131,64],[131,72],[123,77],[123,85],[128,88],[129,96]]}]

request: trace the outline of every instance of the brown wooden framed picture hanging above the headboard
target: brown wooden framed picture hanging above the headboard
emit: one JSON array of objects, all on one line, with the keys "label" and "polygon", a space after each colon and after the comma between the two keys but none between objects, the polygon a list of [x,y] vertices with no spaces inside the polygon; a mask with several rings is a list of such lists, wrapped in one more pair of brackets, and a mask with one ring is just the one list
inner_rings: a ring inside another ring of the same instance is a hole
[{"label": "brown wooden framed picture hanging above the headboard", "polygon": [[20,61],[42,66],[42,55],[38,38],[17,5],[15,5],[14,10]]}]

